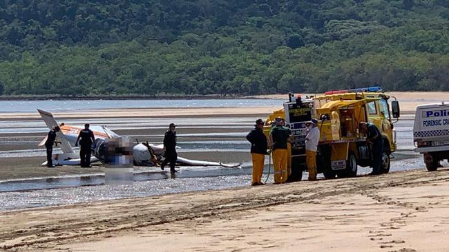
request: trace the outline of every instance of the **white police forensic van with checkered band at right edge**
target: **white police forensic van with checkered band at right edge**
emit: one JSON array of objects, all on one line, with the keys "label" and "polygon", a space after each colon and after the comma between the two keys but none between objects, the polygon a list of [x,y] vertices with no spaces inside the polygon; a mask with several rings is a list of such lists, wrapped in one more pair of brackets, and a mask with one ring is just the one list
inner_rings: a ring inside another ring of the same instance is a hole
[{"label": "white police forensic van with checkered band at right edge", "polygon": [[415,152],[424,154],[428,171],[441,167],[449,158],[449,103],[419,105],[414,117],[413,141]]}]

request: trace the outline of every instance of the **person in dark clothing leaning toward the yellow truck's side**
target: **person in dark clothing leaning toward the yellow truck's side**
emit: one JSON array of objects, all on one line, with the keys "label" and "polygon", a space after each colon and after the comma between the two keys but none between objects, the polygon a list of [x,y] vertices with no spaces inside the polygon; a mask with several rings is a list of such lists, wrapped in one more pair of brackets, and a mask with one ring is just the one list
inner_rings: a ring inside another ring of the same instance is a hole
[{"label": "person in dark clothing leaning toward the yellow truck's side", "polygon": [[382,174],[383,138],[381,132],[373,123],[361,122],[359,129],[361,134],[366,136],[367,142],[372,144],[373,166],[370,175]]}]

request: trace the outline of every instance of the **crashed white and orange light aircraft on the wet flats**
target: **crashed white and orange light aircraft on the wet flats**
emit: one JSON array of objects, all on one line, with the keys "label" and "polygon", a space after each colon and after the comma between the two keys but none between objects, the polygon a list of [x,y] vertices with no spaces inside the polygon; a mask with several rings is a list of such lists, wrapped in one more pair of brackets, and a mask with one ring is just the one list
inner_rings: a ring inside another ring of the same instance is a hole
[{"label": "crashed white and orange light aircraft on the wet flats", "polygon": [[[52,129],[58,125],[57,121],[50,112],[46,112],[41,109],[37,109],[42,119],[46,123],[47,127]],[[73,127],[70,125],[65,125],[61,123],[59,125],[60,131],[57,132],[57,138],[61,143],[60,147],[62,154],[53,154],[53,165],[80,165],[81,159],[79,158],[79,153],[75,152],[72,145],[75,145],[79,132],[82,128]],[[90,126],[95,136],[95,147],[92,149],[92,158],[90,158],[90,163],[93,162],[104,162],[105,154],[105,142],[107,138],[121,138],[120,135],[108,129],[106,126]],[[39,146],[45,144],[44,140],[39,143]],[[133,147],[133,158],[134,165],[137,166],[158,166],[162,157],[164,156],[164,145],[152,145],[149,143],[137,143]],[[187,165],[187,166],[220,166],[220,167],[239,167],[241,163],[238,164],[223,164],[222,162],[209,162],[202,160],[190,160],[187,158],[181,158],[178,156],[176,160],[177,165]],[[42,165],[47,165],[44,162]]]}]

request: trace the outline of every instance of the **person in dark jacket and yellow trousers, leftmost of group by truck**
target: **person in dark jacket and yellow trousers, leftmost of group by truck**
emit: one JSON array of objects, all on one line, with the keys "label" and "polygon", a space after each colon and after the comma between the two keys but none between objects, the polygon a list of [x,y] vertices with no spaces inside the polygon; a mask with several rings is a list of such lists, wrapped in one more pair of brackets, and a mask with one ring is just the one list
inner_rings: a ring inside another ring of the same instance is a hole
[{"label": "person in dark jacket and yellow trousers, leftmost of group by truck", "polygon": [[265,155],[267,155],[267,136],[263,134],[263,125],[265,123],[262,119],[256,120],[254,129],[247,134],[247,140],[251,143],[251,159],[253,160],[253,180],[252,186],[265,185],[262,180],[263,167],[265,162]]}]

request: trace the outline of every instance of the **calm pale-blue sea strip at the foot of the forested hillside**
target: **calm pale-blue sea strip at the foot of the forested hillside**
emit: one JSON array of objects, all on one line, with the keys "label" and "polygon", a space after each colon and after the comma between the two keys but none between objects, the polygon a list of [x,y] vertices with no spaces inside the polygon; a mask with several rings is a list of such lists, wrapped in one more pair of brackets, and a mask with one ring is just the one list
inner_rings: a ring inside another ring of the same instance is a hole
[{"label": "calm pale-blue sea strip at the foot of the forested hillside", "polygon": [[0,112],[48,112],[90,109],[120,109],[149,107],[260,107],[279,106],[283,99],[200,99],[200,100],[45,100],[0,101]]}]

